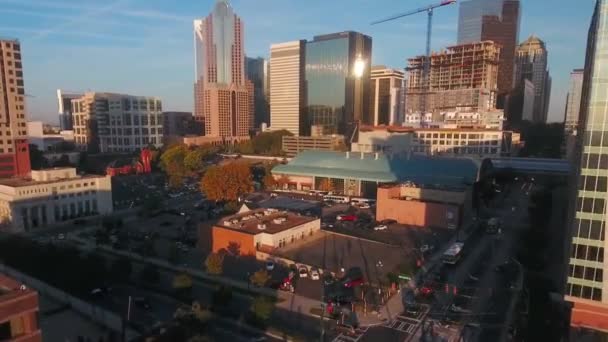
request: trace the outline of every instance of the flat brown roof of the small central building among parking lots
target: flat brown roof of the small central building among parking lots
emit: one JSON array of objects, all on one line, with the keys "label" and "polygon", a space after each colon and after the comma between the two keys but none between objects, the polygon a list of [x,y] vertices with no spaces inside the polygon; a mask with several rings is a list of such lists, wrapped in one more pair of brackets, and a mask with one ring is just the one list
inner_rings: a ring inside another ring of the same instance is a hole
[{"label": "flat brown roof of the small central building among parking lots", "polygon": [[246,213],[227,216],[220,219],[215,226],[231,229],[246,234],[276,234],[318,220],[277,209],[256,209]]}]

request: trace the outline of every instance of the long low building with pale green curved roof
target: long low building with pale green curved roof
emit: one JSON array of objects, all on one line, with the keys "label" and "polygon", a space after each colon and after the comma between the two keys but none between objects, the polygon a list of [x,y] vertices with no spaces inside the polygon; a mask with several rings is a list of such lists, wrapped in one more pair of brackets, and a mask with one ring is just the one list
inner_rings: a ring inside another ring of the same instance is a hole
[{"label": "long low building with pale green curved roof", "polygon": [[477,179],[470,158],[443,158],[409,153],[304,151],[272,169],[275,179],[293,190],[323,190],[345,196],[375,198],[379,184],[459,187]]}]

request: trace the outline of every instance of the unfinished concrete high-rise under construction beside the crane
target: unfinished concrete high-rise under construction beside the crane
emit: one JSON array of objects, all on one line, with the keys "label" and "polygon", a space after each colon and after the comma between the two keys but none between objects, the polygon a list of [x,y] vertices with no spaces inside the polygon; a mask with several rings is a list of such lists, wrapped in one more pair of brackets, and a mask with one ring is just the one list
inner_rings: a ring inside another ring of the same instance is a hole
[{"label": "unfinished concrete high-rise under construction beside the crane", "polygon": [[483,41],[432,53],[428,86],[424,80],[425,59],[408,59],[406,113],[456,107],[487,111],[496,107],[500,45]]}]

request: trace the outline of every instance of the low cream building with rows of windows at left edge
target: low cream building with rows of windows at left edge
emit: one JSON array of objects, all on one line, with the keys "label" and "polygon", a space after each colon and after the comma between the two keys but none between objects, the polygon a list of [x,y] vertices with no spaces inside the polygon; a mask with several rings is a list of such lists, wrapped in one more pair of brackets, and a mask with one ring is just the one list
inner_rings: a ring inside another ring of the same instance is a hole
[{"label": "low cream building with rows of windows at left edge", "polygon": [[0,180],[0,231],[28,232],[111,212],[109,176],[79,176],[75,168],[55,168],[32,170],[30,179]]}]

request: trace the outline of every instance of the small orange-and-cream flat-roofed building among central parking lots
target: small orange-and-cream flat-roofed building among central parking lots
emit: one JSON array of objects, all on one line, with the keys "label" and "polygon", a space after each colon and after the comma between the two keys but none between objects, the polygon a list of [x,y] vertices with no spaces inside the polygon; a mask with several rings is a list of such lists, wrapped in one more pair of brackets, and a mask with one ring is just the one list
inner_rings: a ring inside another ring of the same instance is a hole
[{"label": "small orange-and-cream flat-roofed building among central parking lots", "polygon": [[294,243],[321,229],[321,220],[277,209],[256,209],[225,217],[212,228],[213,252],[256,255]]}]

